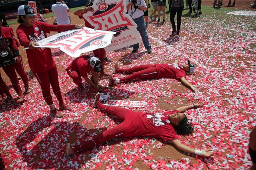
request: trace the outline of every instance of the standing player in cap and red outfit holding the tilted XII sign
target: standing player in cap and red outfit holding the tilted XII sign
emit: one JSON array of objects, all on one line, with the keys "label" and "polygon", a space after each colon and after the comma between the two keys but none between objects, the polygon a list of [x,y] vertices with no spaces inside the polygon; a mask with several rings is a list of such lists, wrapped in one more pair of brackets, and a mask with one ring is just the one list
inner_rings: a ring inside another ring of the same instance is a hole
[{"label": "standing player in cap and red outfit holding the tilted XII sign", "polygon": [[35,20],[34,11],[28,5],[22,5],[18,8],[18,23],[17,35],[20,43],[24,47],[29,47],[26,50],[28,64],[36,76],[41,88],[42,94],[46,103],[50,107],[50,114],[55,117],[62,117],[63,113],[58,112],[50,94],[50,85],[59,102],[59,109],[70,110],[72,107],[64,104],[60,92],[58,71],[56,64],[52,58],[50,48],[36,48],[36,42],[47,37],[46,33],[51,31],[67,31],[70,29],[79,29],[84,25],[51,25]]}]

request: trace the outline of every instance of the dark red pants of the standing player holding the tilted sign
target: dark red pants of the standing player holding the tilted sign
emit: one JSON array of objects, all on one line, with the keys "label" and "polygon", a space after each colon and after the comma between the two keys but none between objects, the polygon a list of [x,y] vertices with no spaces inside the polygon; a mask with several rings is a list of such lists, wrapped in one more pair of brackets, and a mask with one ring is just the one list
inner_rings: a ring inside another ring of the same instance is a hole
[{"label": "dark red pants of the standing player holding the tilted sign", "polygon": [[53,104],[52,95],[50,93],[50,85],[52,86],[52,91],[54,92],[55,96],[57,97],[60,105],[63,105],[63,99],[60,92],[60,85],[58,79],[58,70],[56,65],[46,71],[46,72],[34,72],[36,79],[38,80],[44,99],[48,105]]}]

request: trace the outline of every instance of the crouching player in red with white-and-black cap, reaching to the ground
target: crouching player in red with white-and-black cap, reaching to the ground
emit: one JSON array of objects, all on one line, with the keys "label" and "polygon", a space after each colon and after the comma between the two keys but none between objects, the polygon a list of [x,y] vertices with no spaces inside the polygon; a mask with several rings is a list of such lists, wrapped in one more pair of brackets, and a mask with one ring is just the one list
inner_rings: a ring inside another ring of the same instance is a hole
[{"label": "crouching player in red with white-and-black cap, reaching to the ground", "polygon": [[[102,71],[102,65],[100,59],[97,57],[90,57],[88,55],[82,55],[77,57],[68,65],[66,71],[74,83],[78,86],[78,92],[84,92],[82,86],[82,77],[90,84],[90,86],[96,88],[98,92],[102,92],[102,86],[98,82],[98,72]],[[92,78],[88,78],[88,73],[92,72]]]}]

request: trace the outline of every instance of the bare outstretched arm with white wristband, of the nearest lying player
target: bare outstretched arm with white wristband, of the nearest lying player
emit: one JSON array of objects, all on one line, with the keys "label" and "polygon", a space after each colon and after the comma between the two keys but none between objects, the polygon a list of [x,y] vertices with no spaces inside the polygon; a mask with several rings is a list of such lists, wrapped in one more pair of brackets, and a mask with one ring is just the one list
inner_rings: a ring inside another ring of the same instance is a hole
[{"label": "bare outstretched arm with white wristband, of the nearest lying player", "polygon": [[209,152],[211,149],[204,149],[204,150],[197,150],[193,149],[191,147],[188,147],[180,142],[180,140],[175,139],[170,141],[177,149],[182,150],[184,152],[192,153],[192,154],[197,154],[197,155],[202,155],[202,156],[212,156],[214,152]]}]

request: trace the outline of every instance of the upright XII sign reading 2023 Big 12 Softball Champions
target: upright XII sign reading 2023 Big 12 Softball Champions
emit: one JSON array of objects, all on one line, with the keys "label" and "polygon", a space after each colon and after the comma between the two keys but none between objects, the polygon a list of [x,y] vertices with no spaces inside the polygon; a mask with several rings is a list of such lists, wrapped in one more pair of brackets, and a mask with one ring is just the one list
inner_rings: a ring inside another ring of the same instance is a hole
[{"label": "upright XII sign reading 2023 Big 12 Softball Champions", "polygon": [[94,26],[95,30],[114,31],[111,44],[106,51],[114,51],[129,45],[140,43],[137,25],[126,14],[124,0],[94,0],[94,12],[88,11],[83,17]]}]

